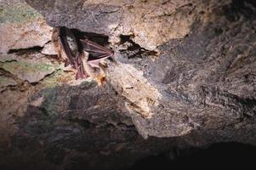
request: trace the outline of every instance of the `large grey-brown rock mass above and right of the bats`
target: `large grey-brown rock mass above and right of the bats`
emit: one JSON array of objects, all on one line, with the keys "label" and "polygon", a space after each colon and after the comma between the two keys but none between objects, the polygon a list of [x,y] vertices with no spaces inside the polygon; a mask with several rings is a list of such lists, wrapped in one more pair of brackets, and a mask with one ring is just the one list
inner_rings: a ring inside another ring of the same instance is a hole
[{"label": "large grey-brown rock mass above and right of the bats", "polygon": [[145,138],[225,132],[255,119],[251,1],[26,2],[52,26],[110,37],[111,84]]}]

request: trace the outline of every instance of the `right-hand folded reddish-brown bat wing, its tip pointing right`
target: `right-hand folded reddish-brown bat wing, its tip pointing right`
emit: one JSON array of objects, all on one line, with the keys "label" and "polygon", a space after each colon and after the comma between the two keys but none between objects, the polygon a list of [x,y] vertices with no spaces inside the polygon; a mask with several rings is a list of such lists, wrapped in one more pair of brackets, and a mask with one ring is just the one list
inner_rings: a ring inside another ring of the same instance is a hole
[{"label": "right-hand folded reddish-brown bat wing, its tip pointing right", "polygon": [[82,42],[83,50],[90,54],[88,62],[95,62],[97,60],[109,58],[114,55],[114,52],[111,49],[105,48],[95,42],[89,41],[88,39],[82,39],[80,41]]}]

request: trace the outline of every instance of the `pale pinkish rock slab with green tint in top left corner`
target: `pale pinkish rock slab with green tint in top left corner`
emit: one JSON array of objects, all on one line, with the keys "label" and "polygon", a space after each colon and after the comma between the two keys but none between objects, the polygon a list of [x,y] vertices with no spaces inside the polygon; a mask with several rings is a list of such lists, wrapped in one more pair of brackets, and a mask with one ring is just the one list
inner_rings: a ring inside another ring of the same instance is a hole
[{"label": "pale pinkish rock slab with green tint in top left corner", "polygon": [[0,20],[1,54],[12,49],[43,47],[50,41],[52,28],[24,1],[0,2]]}]

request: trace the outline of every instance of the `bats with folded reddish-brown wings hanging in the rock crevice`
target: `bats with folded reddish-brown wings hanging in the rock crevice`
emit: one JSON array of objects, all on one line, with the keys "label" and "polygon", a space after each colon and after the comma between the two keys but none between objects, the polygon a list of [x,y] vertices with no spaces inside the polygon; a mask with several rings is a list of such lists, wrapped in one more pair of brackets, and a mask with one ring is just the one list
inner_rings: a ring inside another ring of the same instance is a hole
[{"label": "bats with folded reddish-brown wings hanging in the rock crevice", "polygon": [[105,82],[105,65],[100,61],[110,58],[114,52],[88,37],[77,37],[70,29],[54,27],[52,42],[65,66],[71,65],[76,70],[76,79],[92,77],[99,85]]}]

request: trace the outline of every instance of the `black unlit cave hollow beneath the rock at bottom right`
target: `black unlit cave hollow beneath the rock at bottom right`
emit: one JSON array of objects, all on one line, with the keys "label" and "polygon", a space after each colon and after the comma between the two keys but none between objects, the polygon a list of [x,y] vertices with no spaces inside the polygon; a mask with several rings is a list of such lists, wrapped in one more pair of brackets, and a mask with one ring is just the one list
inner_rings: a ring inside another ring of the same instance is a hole
[{"label": "black unlit cave hollow beneath the rock at bottom right", "polygon": [[129,170],[180,169],[180,168],[249,168],[255,165],[256,147],[239,143],[219,143],[207,149],[181,150],[179,156],[170,158],[169,152],[149,156],[134,163]]}]

